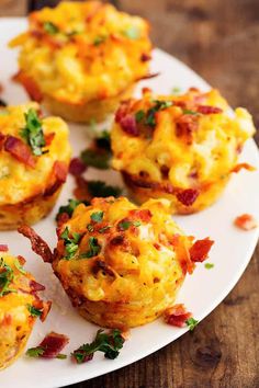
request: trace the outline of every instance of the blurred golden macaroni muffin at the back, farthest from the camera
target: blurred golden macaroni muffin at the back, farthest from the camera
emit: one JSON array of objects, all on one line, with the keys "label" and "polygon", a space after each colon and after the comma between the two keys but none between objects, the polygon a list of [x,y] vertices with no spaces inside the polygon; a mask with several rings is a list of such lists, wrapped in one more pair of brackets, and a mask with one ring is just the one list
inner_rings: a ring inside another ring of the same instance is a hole
[{"label": "blurred golden macaroni muffin at the back, farthest from the camera", "polygon": [[148,77],[148,23],[99,1],[31,13],[15,79],[32,100],[71,122],[102,121]]}]

